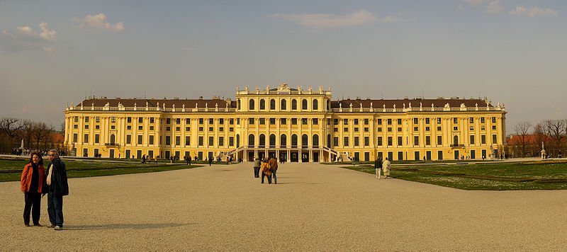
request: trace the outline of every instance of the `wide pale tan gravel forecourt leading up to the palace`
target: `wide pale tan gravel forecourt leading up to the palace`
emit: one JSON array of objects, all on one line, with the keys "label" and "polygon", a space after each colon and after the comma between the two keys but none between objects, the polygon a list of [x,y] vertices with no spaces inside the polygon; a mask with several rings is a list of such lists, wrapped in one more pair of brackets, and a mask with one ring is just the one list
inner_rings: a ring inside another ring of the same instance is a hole
[{"label": "wide pale tan gravel forecourt leading up to the palace", "polygon": [[63,231],[24,227],[19,183],[0,183],[0,250],[567,250],[566,190],[465,191],[320,164],[278,176],[260,184],[234,164],[74,178]]}]

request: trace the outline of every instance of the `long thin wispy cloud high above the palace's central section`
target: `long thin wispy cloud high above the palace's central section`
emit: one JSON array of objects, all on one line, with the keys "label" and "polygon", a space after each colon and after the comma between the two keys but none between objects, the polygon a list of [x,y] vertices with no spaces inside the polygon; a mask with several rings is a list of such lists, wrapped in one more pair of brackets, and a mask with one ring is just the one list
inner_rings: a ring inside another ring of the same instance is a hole
[{"label": "long thin wispy cloud high above the palace's central section", "polygon": [[[369,11],[360,10],[344,16],[337,16],[334,14],[273,14],[271,18],[281,18],[284,20],[292,21],[298,25],[303,25],[308,28],[342,28],[349,26],[364,25],[378,21],[378,18]],[[383,18],[381,22],[388,23],[394,21],[394,17],[388,19]],[[385,22],[388,21],[388,22]]]}]

